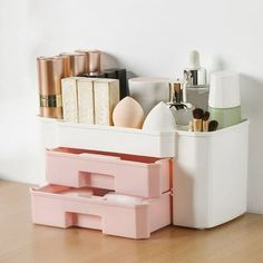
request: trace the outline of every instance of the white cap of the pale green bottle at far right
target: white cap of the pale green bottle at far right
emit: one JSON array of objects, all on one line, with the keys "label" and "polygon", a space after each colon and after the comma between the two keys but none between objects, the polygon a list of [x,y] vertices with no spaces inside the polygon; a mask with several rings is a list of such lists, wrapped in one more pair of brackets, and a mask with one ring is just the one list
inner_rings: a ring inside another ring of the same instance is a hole
[{"label": "white cap of the pale green bottle at far right", "polygon": [[211,75],[208,106],[232,108],[241,105],[238,74],[216,71]]}]

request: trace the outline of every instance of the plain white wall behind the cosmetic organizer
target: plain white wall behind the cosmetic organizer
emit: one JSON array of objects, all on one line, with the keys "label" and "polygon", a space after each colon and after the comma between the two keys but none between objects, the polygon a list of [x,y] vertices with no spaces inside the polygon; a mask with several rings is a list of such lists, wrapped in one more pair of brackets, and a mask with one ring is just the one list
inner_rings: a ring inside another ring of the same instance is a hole
[{"label": "plain white wall behind the cosmetic organizer", "polygon": [[0,178],[45,182],[36,57],[98,48],[136,75],[175,77],[197,49],[210,70],[242,74],[249,206],[263,213],[262,12],[262,0],[0,0]]}]

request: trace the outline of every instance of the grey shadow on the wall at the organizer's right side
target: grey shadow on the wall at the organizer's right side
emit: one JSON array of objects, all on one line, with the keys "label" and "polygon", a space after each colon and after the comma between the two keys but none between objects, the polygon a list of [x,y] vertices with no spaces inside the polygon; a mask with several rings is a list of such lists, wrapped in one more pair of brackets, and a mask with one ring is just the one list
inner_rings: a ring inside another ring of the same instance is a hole
[{"label": "grey shadow on the wall at the organizer's right side", "polygon": [[263,213],[263,82],[241,75],[242,116],[250,119],[249,211]]}]

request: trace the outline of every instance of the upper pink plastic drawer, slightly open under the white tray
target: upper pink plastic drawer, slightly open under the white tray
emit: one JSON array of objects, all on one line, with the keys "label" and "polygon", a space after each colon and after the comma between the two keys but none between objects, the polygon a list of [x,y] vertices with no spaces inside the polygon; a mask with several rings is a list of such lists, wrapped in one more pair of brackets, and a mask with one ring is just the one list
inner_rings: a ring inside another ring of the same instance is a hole
[{"label": "upper pink plastic drawer, slightly open under the white tray", "polygon": [[143,197],[171,189],[172,159],[56,148],[47,150],[49,184],[98,187]]}]

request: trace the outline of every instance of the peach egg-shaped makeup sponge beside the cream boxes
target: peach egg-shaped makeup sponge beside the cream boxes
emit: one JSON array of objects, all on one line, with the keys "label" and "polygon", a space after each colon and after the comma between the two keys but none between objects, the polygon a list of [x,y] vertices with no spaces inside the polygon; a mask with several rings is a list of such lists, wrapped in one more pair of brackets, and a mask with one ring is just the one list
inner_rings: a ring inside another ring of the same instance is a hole
[{"label": "peach egg-shaped makeup sponge beside the cream boxes", "polygon": [[144,121],[143,107],[132,97],[125,97],[113,113],[114,126],[140,129]]}]

